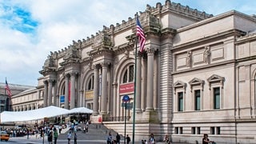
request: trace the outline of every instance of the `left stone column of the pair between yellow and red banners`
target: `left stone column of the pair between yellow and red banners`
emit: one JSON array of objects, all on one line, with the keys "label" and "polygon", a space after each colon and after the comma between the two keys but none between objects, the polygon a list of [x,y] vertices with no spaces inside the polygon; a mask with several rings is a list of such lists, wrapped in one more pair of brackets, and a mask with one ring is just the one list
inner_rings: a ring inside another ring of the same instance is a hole
[{"label": "left stone column of the pair between yellow and red banners", "polygon": [[94,66],[94,115],[98,114],[98,66]]}]

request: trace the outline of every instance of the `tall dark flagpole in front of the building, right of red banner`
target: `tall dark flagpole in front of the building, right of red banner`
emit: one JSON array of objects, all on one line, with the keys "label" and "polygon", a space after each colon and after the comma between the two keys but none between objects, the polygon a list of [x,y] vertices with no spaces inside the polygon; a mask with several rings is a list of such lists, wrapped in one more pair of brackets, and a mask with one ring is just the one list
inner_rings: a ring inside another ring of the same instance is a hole
[{"label": "tall dark flagpole in front of the building, right of red banner", "polygon": [[[135,14],[135,23],[138,17],[138,13]],[[134,69],[134,109],[133,109],[133,144],[134,144],[134,134],[135,134],[135,106],[136,106],[136,80],[137,80],[137,34],[135,34],[135,69]]]}]

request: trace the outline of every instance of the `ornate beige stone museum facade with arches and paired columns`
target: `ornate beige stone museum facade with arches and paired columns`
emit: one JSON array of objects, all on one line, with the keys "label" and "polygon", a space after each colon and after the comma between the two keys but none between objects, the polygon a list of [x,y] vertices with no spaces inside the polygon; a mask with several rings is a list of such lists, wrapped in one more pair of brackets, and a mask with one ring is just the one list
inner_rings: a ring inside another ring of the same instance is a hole
[{"label": "ornate beige stone museum facade with arches and paired columns", "polygon": [[[127,94],[136,100],[137,140],[154,133],[201,142],[210,134],[218,143],[256,143],[256,18],[235,10],[213,16],[166,0],[146,6],[139,20],[142,53],[135,53],[134,18],[50,52],[38,79],[43,106],[86,106],[93,122],[102,118],[123,134]],[[132,135],[133,110],[127,118]]]}]

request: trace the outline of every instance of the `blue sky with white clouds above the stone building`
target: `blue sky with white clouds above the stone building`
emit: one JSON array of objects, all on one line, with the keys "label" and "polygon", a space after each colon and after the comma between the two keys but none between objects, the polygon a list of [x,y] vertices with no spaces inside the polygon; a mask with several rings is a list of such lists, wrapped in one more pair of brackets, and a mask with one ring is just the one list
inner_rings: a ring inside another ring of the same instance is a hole
[{"label": "blue sky with white clouds above the stone building", "polygon": [[[166,0],[0,0],[0,82],[37,86],[50,54]],[[207,14],[256,14],[255,0],[171,0]]]}]

